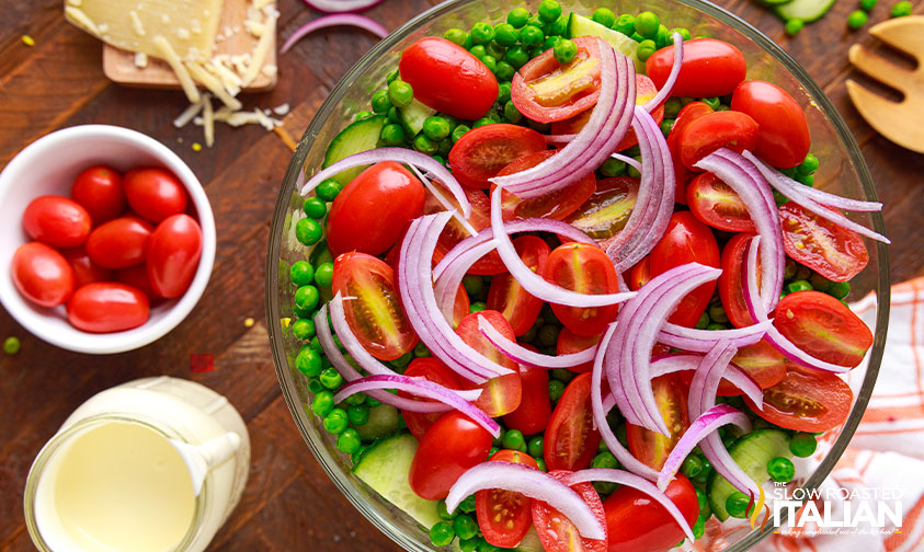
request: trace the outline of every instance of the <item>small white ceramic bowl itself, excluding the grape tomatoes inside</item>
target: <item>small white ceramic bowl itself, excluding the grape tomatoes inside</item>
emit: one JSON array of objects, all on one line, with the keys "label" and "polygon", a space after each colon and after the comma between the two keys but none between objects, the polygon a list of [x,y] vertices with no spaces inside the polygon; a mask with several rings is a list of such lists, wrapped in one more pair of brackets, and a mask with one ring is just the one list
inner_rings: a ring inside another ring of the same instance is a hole
[{"label": "small white ceramic bowl itself, excluding the grape tomatoes inside", "polygon": [[[73,179],[94,164],[106,164],[121,172],[135,166],[161,166],[171,171],[186,187],[203,232],[202,260],[190,289],[182,297],[152,308],[144,325],[125,332],[82,332],[70,325],[64,307],[45,309],[25,300],[10,277],[13,253],[30,241],[22,228],[25,207],[42,195],[69,196]],[[215,248],[215,218],[198,179],[175,153],[141,133],[109,125],[57,130],[23,149],[0,173],[0,302],[32,334],[58,347],[104,355],[136,349],[159,340],[176,327],[198,302],[212,275]]]}]

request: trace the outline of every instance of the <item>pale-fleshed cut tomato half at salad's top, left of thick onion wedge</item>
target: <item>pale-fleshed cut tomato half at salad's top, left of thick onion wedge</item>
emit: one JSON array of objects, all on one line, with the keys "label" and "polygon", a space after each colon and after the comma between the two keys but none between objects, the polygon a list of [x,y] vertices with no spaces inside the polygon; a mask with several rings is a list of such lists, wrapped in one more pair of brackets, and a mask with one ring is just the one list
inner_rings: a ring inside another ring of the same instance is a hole
[{"label": "pale-fleshed cut tomato half at salad's top, left of thick onion wedge", "polygon": [[514,74],[513,105],[539,123],[564,120],[596,105],[600,97],[600,43],[592,36],[573,38],[578,54],[568,65],[549,48]]}]

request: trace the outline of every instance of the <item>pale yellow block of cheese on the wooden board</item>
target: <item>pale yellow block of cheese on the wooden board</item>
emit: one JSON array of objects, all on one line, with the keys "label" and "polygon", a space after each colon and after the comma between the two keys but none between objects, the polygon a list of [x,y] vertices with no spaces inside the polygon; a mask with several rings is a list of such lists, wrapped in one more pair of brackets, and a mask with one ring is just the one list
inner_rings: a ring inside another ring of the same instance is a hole
[{"label": "pale yellow block of cheese on the wooden board", "polygon": [[[66,0],[68,21],[117,48],[184,61],[213,55],[224,0]],[[162,37],[158,39],[158,37]]]}]

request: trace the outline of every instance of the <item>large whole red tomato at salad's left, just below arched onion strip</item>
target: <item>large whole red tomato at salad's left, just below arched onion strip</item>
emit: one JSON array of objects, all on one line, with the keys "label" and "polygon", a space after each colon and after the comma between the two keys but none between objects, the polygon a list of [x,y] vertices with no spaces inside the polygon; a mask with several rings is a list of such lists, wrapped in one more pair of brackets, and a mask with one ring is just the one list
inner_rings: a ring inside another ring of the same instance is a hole
[{"label": "large whole red tomato at salad's left, just below arched onion strip", "polygon": [[423,184],[400,163],[383,161],[338,194],[328,215],[328,248],[380,255],[423,212]]}]

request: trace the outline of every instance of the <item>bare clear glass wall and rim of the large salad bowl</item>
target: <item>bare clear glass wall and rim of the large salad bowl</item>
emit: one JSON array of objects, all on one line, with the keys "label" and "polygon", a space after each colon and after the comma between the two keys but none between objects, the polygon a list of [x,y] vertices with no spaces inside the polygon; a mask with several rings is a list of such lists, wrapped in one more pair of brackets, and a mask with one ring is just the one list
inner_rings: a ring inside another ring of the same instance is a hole
[{"label": "bare clear glass wall and rim of the large salad bowl", "polygon": [[[636,13],[639,5],[632,0],[560,0],[562,11],[590,14],[605,7],[616,13]],[[363,59],[338,83],[318,110],[298,143],[289,162],[273,216],[266,257],[266,317],[276,373],[293,418],[308,447],[318,458],[331,480],[351,503],[378,529],[409,551],[433,550],[427,532],[410,516],[391,506],[351,472],[350,458],[339,452],[334,438],[328,434],[319,418],[310,412],[311,393],[307,379],[295,368],[294,358],[301,346],[286,319],[294,319],[294,287],[289,283],[290,263],[306,258],[308,250],[295,238],[295,223],[301,214],[298,187],[307,169],[313,174],[320,168],[324,150],[331,139],[356,113],[367,110],[373,92],[384,87],[386,76],[397,67],[399,54],[418,38],[442,35],[452,27],[470,27],[476,21],[500,22],[516,7],[535,10],[538,1],[450,0],[427,10],[389,35],[369,50]],[[821,161],[815,175],[815,186],[841,195],[876,199],[876,191],[866,163],[856,142],[821,88],[786,51],[760,31],[728,11],[703,0],[648,0],[643,10],[652,10],[669,27],[686,27],[693,36],[706,35],[731,42],[748,59],[748,77],[776,82],[803,106],[812,135],[812,152]],[[856,220],[883,232],[880,214],[857,214]],[[876,340],[869,354],[869,365],[863,387],[855,393],[855,404],[849,418],[836,435],[830,452],[803,486],[818,486],[843,453],[866,409],[872,392],[882,347],[889,311],[889,262],[887,249],[881,243],[867,241],[869,265],[852,281],[852,300],[870,291],[879,298],[876,313]],[[773,528],[763,532],[739,532],[729,550],[751,548]]]}]

